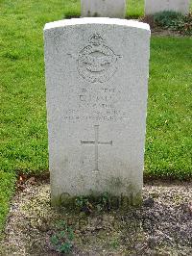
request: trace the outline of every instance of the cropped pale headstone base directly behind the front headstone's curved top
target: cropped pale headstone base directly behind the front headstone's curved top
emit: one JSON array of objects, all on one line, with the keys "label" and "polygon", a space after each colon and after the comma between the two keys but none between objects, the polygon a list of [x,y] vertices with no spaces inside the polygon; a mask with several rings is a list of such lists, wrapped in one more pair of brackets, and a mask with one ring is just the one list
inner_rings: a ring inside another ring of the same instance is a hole
[{"label": "cropped pale headstone base directly behind the front headstone's curved top", "polygon": [[82,0],[83,17],[118,17],[126,14],[126,0]]}]

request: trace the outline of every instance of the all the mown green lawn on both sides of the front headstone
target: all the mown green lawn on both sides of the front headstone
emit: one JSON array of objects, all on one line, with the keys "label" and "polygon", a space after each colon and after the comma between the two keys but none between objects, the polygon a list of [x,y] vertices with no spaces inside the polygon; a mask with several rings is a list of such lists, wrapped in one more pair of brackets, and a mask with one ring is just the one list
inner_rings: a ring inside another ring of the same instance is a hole
[{"label": "all the mown green lawn on both sides of the front headstone", "polygon": [[[0,1],[0,230],[15,174],[48,171],[42,29],[70,15],[80,1]],[[191,38],[152,38],[145,175],[192,176],[191,60]]]}]

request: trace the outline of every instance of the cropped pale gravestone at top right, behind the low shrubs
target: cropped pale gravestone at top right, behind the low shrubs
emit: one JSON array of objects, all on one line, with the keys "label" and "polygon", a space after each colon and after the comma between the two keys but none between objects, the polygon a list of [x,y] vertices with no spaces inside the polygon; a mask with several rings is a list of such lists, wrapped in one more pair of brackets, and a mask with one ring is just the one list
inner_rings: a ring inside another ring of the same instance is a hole
[{"label": "cropped pale gravestone at top right, behind the low shrubs", "polygon": [[163,11],[189,13],[189,0],[145,0],[145,14],[155,14]]}]

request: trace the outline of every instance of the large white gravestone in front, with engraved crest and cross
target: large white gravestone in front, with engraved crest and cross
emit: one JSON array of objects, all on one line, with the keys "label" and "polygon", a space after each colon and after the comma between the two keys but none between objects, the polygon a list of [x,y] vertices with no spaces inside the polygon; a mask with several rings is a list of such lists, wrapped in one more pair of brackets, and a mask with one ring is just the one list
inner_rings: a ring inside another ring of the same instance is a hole
[{"label": "large white gravestone in front, with engraved crest and cross", "polygon": [[87,194],[141,198],[149,25],[80,18],[44,28],[52,203]]}]

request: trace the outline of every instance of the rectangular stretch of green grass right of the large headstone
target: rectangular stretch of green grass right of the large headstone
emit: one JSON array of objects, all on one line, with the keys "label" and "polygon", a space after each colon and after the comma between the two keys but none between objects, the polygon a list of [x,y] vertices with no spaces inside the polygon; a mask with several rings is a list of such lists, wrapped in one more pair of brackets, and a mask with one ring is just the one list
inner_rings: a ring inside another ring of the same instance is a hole
[{"label": "rectangular stretch of green grass right of the large headstone", "polygon": [[146,173],[192,175],[192,39],[152,38]]}]

